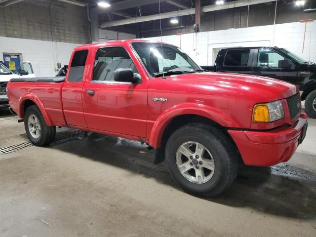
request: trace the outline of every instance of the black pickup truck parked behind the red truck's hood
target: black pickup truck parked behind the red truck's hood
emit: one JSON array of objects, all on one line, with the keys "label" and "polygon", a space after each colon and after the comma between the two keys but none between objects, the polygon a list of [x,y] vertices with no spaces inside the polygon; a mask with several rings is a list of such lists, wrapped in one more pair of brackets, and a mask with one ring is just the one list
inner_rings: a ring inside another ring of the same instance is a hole
[{"label": "black pickup truck parked behind the red truck's hood", "polygon": [[201,67],[208,71],[252,74],[299,85],[307,114],[316,118],[316,64],[284,48],[225,48],[218,52],[214,66]]}]

